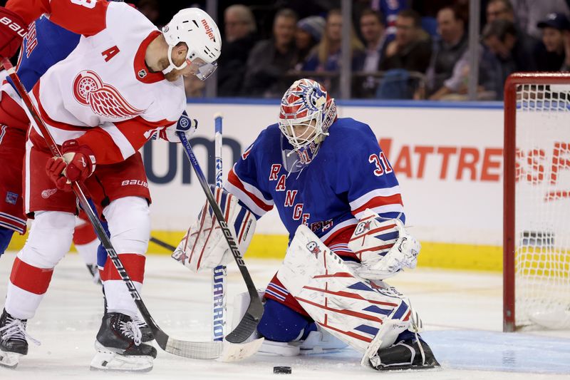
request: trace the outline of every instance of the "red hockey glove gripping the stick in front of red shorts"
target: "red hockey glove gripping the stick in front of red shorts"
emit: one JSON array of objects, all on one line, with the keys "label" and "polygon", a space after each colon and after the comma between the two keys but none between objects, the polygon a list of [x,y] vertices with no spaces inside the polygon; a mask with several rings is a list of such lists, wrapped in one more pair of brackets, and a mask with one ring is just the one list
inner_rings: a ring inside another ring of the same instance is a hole
[{"label": "red hockey glove gripping the stick in front of red shorts", "polygon": [[63,157],[52,157],[46,163],[46,173],[56,188],[71,191],[73,181],[86,180],[95,171],[95,155],[87,145],[67,140],[61,145]]}]

